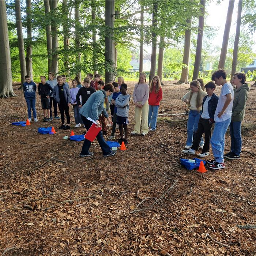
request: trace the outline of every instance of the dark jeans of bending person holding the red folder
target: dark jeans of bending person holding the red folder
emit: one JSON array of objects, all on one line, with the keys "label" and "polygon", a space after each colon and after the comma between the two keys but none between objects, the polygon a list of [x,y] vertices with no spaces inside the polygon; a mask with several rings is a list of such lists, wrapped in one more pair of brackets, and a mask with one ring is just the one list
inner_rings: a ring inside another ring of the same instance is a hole
[{"label": "dark jeans of bending person holding the red folder", "polygon": [[[82,115],[81,115],[81,117],[82,117],[83,123],[85,125],[85,128],[88,131],[90,129],[91,125],[93,124],[93,122],[89,121],[88,119],[86,119],[86,117],[84,117]],[[102,131],[99,131],[99,133],[98,133],[96,138],[98,140],[99,146],[101,146],[103,155],[108,155],[111,152],[111,150],[110,150],[109,145],[106,143],[105,139],[102,136]],[[90,146],[91,146],[90,140],[84,139],[83,147],[82,147],[82,150],[81,150],[80,154],[81,155],[88,154]]]}]

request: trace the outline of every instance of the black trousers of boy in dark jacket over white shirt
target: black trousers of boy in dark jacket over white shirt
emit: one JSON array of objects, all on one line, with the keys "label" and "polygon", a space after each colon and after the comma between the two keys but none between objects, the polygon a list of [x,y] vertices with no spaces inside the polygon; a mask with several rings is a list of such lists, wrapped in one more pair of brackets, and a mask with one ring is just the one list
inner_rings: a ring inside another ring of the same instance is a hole
[{"label": "black trousers of boy in dark jacket over white shirt", "polygon": [[198,150],[201,137],[204,133],[204,147],[202,149],[202,154],[209,152],[210,139],[211,139],[211,127],[212,125],[209,123],[209,119],[204,119],[202,117],[199,118],[197,131],[193,138],[193,144],[191,149]]}]

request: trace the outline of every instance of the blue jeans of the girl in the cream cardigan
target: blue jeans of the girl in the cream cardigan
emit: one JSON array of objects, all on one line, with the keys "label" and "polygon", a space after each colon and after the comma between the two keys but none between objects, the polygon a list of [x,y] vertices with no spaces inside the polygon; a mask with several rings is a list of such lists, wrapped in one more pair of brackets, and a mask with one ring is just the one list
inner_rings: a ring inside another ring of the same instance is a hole
[{"label": "blue jeans of the girl in the cream cardigan", "polygon": [[[186,146],[191,147],[193,142],[193,136],[197,131],[198,121],[201,116],[202,111],[198,112],[197,110],[189,110],[188,114],[188,123],[187,123],[187,143]],[[200,146],[203,146],[204,140],[201,138]]]}]

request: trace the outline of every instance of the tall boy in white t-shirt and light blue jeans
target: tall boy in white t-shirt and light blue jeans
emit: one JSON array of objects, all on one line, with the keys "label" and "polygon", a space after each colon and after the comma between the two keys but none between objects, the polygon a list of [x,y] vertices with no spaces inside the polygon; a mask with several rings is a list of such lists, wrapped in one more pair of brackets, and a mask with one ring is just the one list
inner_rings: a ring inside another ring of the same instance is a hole
[{"label": "tall boy in white t-shirt and light blue jeans", "polygon": [[212,74],[212,81],[218,86],[222,85],[221,94],[214,114],[215,127],[211,137],[212,153],[215,160],[208,161],[209,168],[223,169],[224,163],[224,147],[225,133],[231,122],[232,106],[234,100],[234,90],[231,83],[227,82],[227,73],[224,69],[218,69]]}]

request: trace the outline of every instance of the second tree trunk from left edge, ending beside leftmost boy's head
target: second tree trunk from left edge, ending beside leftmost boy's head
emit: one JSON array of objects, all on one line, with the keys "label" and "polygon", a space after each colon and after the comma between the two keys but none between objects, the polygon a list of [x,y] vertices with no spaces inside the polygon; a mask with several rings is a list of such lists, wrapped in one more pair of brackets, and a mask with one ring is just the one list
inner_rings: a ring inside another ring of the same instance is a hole
[{"label": "second tree trunk from left edge, ending beside leftmost boy's head", "polygon": [[16,27],[17,27],[17,36],[18,36],[18,48],[19,48],[19,63],[20,63],[20,80],[21,87],[23,82],[25,82],[26,75],[26,62],[25,62],[25,50],[24,50],[24,41],[22,34],[22,22],[21,22],[21,13],[20,13],[20,1],[15,1],[15,18],[16,18]]}]

